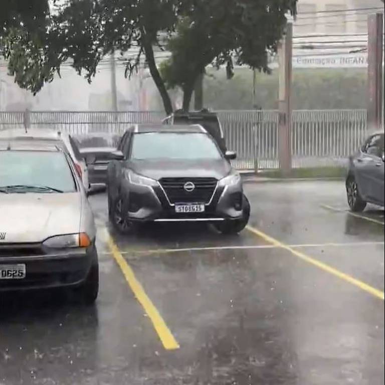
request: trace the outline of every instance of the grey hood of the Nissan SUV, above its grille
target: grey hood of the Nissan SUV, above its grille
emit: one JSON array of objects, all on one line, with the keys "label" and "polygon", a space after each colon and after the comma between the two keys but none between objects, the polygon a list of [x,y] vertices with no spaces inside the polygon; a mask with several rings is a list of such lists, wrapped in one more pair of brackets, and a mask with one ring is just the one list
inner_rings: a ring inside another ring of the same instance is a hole
[{"label": "grey hood of the Nissan SUV, above its grille", "polygon": [[129,167],[140,175],[159,180],[165,177],[214,177],[222,179],[231,171],[225,159],[132,160]]}]

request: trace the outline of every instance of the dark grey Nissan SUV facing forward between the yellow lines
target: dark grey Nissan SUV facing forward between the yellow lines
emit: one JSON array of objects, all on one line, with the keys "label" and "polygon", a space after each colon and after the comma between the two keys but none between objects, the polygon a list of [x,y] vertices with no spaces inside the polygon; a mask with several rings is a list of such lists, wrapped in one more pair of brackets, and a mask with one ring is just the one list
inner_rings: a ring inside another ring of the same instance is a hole
[{"label": "dark grey Nissan SUV facing forward between the yellow lines", "polygon": [[200,125],[134,125],[108,165],[108,212],[122,233],[148,222],[208,222],[245,228],[250,205],[240,174]]}]

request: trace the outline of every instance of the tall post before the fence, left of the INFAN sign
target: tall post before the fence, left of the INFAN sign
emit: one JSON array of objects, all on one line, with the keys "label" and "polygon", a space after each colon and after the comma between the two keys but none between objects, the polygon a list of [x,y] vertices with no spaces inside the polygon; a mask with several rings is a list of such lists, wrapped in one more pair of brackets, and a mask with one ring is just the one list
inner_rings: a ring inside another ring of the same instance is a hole
[{"label": "tall post before the fence, left of the INFAN sign", "polygon": [[284,176],[291,171],[291,84],[292,84],[293,25],[286,25],[286,35],[279,47],[279,167]]}]

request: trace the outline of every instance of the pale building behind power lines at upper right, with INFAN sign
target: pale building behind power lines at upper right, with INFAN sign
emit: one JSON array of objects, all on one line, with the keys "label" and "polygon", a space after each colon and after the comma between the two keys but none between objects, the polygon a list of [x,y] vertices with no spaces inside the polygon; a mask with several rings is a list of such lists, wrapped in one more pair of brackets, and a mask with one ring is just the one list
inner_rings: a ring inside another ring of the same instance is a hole
[{"label": "pale building behind power lines at upper right, with INFAN sign", "polygon": [[367,18],[380,0],[298,0],[293,20],[294,68],[365,68]]}]

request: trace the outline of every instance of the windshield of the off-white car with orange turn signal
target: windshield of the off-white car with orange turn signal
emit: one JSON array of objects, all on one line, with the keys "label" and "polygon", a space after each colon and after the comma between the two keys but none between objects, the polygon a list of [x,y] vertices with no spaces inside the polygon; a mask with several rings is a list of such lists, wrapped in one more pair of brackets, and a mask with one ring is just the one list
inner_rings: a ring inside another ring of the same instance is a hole
[{"label": "windshield of the off-white car with orange turn signal", "polygon": [[76,191],[65,155],[51,151],[0,151],[0,188],[18,193]]}]

